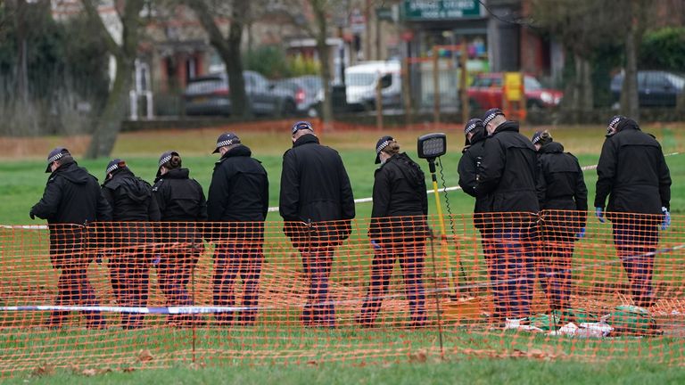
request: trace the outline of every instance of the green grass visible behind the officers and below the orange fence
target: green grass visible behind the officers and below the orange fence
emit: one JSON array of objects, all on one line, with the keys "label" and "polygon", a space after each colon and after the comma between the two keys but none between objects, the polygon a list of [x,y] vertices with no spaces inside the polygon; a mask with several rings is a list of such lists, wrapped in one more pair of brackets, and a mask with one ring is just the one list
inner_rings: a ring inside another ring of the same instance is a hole
[{"label": "green grass visible behind the officers and below the orange fence", "polygon": [[[685,150],[685,126],[681,127],[646,127],[648,131],[660,140],[664,147],[664,153],[683,152]],[[604,140],[603,127],[556,127],[552,129],[555,139],[565,144],[566,151],[576,154],[582,166],[594,165],[598,160],[599,149]],[[129,167],[136,175],[151,181],[156,172],[159,154],[169,149],[177,150],[184,159],[184,167],[191,169],[191,176],[197,179],[207,191],[210,184],[213,163],[218,159],[216,155],[210,155],[217,135],[220,130],[198,131],[163,131],[154,133],[137,133],[120,135],[113,157],[123,158],[128,161]],[[373,172],[376,168],[373,160],[375,153],[373,147],[380,135],[394,135],[403,149],[416,160],[416,138],[418,135],[431,132],[429,129],[421,132],[336,132],[321,135],[322,143],[331,145],[339,152],[351,177],[351,184],[355,198],[366,198],[371,195],[373,184]],[[531,136],[532,129],[524,129],[524,135]],[[278,201],[278,181],[280,177],[280,165],[282,153],[289,148],[290,138],[287,133],[242,133],[243,143],[252,148],[253,156],[260,159],[268,170],[270,179],[270,206],[276,206]],[[463,146],[463,135],[459,131],[447,133],[449,138],[449,152],[442,158],[445,184],[453,186],[457,184],[457,164]],[[69,143],[60,143],[59,138],[53,138],[55,145],[62,144],[69,147]],[[45,152],[45,151],[44,151]],[[4,160],[0,163],[0,194],[3,202],[0,204],[0,225],[25,225],[41,224],[43,221],[30,221],[29,209],[40,199],[45,187],[48,174],[44,174],[45,154],[42,152],[30,153],[23,160]],[[92,174],[101,179],[103,170],[108,160],[77,160],[80,165],[87,167]],[[666,158],[673,178],[672,187],[672,212],[685,212],[685,154],[673,155]],[[422,168],[427,171],[427,165],[423,160],[417,160]],[[440,176],[439,176],[440,179]],[[594,184],[596,173],[585,173],[586,184],[589,189],[590,207],[594,198]],[[430,188],[430,176],[426,184]],[[433,197],[431,196],[431,199]],[[473,208],[473,200],[465,193],[449,193],[450,209],[455,214],[467,214]],[[434,212],[434,201],[431,201],[430,210]],[[357,205],[357,216],[368,217],[371,204],[360,203]],[[445,201],[442,199],[442,209],[445,209]],[[269,221],[278,221],[277,213],[270,213]],[[594,221],[594,217],[590,217]],[[681,224],[679,224],[681,225]],[[595,226],[597,227],[597,226]],[[607,229],[604,229],[607,231]],[[682,231],[682,229],[671,230]],[[590,236],[593,236],[590,234]],[[596,236],[596,235],[595,235]],[[0,257],[2,258],[2,257]],[[466,268],[470,266],[467,264]],[[50,272],[53,274],[53,272]],[[336,274],[336,273],[334,273]],[[680,278],[678,278],[680,280]],[[159,330],[155,331],[160,333]],[[350,331],[347,331],[350,332]],[[5,331],[4,333],[7,333]],[[177,332],[169,331],[167,340],[182,339],[175,337]],[[288,333],[295,333],[289,330]],[[302,332],[306,333],[306,332]],[[351,337],[353,341],[375,340],[374,332],[368,337],[359,335],[354,331]],[[386,332],[384,336],[378,336],[379,342],[387,344],[389,340],[400,338],[404,332]],[[75,338],[89,339],[87,332],[75,332]],[[173,334],[173,335],[171,335]],[[363,333],[362,333],[363,334]],[[41,340],[50,340],[55,335],[49,332],[40,332]],[[107,334],[108,336],[110,334]],[[121,339],[130,339],[143,343],[147,338],[144,333]],[[238,341],[253,339],[268,340],[269,331],[247,332]],[[218,339],[220,336],[205,335],[206,340]],[[278,337],[277,332],[274,337]],[[293,340],[306,342],[306,335],[289,335]],[[330,338],[330,337],[329,337]],[[474,340],[475,339],[475,340]],[[102,343],[104,351],[112,348],[119,338],[111,340],[89,341],[91,346]],[[421,341],[424,339],[417,339]],[[425,348],[434,347],[434,340],[425,339]],[[20,341],[21,342],[21,341]],[[11,334],[5,334],[0,341],[0,356],[2,352],[10,352],[13,348],[20,348],[17,340],[12,339]],[[510,351],[516,347],[516,340],[508,340],[507,336],[484,336],[479,338],[474,335],[462,337],[453,334],[452,340],[447,340],[450,346],[465,348],[473,344],[474,348],[493,345],[495,348]],[[527,345],[521,347],[528,350],[537,346],[539,341],[521,340]],[[22,342],[21,342],[22,343]],[[151,340],[151,343],[153,340]],[[566,342],[560,342],[564,345]],[[594,352],[595,356],[603,356],[602,344],[597,341],[577,342],[569,344],[581,344],[586,352]],[[666,350],[672,352],[660,352],[657,356],[672,356],[682,359],[682,348],[679,340],[664,341]],[[169,345],[173,343],[169,342]],[[631,343],[631,348],[626,348],[626,356],[631,354],[651,351],[654,348],[649,340]],[[620,346],[620,345],[619,345]],[[417,342],[412,348],[423,348]],[[26,347],[21,347],[26,348]],[[43,348],[38,343],[37,349]],[[165,347],[162,347],[165,348]],[[169,348],[169,347],[166,347]],[[569,348],[565,346],[564,349]],[[572,347],[571,347],[572,348]],[[682,383],[685,374],[676,365],[663,365],[654,362],[642,362],[632,358],[618,358],[618,352],[612,350],[612,360],[609,362],[580,362],[571,359],[555,359],[553,357],[539,357],[534,359],[516,359],[504,357],[491,359],[487,357],[474,358],[474,356],[451,355],[446,362],[441,362],[437,356],[429,356],[425,359],[409,359],[400,356],[389,363],[376,363],[375,365],[360,365],[359,362],[331,363],[321,362],[316,365],[230,365],[223,361],[217,366],[210,365],[202,369],[194,369],[193,365],[179,362],[171,364],[169,369],[136,370],[133,373],[121,373],[120,369],[113,373],[103,373],[88,377],[81,372],[58,369],[54,373],[45,375],[21,373],[18,379],[12,379],[8,383],[549,383],[550,381],[564,381],[567,383]],[[628,354],[630,353],[630,354]],[[588,359],[588,356],[579,358]],[[2,361],[2,358],[0,358]],[[668,361],[668,360],[665,360]],[[1,364],[1,363],[0,363]],[[681,363],[682,365],[682,363]]]}]

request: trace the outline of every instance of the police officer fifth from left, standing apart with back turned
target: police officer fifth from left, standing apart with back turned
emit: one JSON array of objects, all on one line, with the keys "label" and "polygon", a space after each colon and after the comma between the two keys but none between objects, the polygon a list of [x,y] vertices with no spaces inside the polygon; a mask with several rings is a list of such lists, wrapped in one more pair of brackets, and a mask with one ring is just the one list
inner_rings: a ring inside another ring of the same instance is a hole
[{"label": "police officer fifth from left, standing apart with back turned", "polygon": [[279,211],[309,278],[302,322],[334,327],[328,280],[334,248],[350,236],[355,214],[350,178],[338,152],[318,142],[309,122],[299,121],[291,131],[293,148],[283,154]]}]

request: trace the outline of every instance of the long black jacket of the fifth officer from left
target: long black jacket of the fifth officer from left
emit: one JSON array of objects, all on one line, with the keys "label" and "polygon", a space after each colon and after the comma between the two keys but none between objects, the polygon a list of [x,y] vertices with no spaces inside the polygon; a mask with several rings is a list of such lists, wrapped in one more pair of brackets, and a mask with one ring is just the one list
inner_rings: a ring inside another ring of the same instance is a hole
[{"label": "long black jacket of the fifth officer from left", "polygon": [[[350,178],[340,154],[319,144],[315,135],[302,135],[283,154],[279,211],[285,222],[345,220],[315,225],[312,230],[317,237],[334,242],[350,235],[349,220],[355,215]],[[285,233],[292,238],[297,234],[291,225],[285,224]]]}]

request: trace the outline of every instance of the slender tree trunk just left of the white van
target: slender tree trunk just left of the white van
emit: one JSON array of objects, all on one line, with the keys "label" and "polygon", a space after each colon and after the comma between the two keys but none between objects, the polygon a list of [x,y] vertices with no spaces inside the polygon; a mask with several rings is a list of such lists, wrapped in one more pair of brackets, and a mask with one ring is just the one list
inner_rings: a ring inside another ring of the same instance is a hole
[{"label": "slender tree trunk just left of the white van", "polygon": [[321,111],[321,120],[323,122],[324,130],[331,129],[331,122],[333,120],[333,102],[331,100],[331,67],[330,55],[328,53],[328,45],[326,44],[326,37],[328,37],[327,22],[326,22],[326,5],[324,0],[310,0],[311,8],[314,12],[314,19],[317,23],[316,40],[318,60],[321,63],[321,81],[324,86],[324,104]]}]

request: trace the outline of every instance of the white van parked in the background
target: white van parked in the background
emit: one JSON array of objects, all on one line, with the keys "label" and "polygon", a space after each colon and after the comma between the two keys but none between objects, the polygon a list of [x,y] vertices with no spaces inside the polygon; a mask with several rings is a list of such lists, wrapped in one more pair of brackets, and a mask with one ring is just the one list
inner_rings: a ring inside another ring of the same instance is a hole
[{"label": "white van parked in the background", "polygon": [[381,83],[384,107],[402,105],[399,61],[367,61],[345,69],[346,99],[352,109],[376,106],[376,86]]}]

